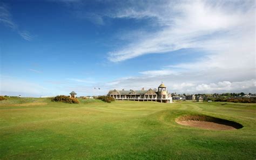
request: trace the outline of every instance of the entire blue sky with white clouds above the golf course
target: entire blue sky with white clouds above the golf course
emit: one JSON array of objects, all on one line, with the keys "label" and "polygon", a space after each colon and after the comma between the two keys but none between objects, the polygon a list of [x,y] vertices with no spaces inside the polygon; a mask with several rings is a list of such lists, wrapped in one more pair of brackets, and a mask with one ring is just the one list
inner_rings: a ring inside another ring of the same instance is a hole
[{"label": "entire blue sky with white clouds above the golf course", "polygon": [[1,94],[256,92],[254,1],[0,1]]}]

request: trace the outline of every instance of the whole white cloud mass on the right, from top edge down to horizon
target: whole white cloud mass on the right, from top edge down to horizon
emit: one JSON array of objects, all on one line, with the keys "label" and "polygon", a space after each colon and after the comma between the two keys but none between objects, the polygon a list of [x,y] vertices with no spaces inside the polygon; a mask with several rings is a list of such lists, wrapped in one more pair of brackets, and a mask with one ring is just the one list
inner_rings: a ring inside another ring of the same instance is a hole
[{"label": "whole white cloud mass on the right, from top edge down to horizon", "polygon": [[160,66],[164,69],[139,72],[142,76],[117,79],[109,83],[112,88],[152,88],[164,81],[171,92],[256,92],[254,1],[145,4],[143,9],[121,9],[112,17],[151,18],[152,24],[160,26],[157,32],[140,29],[139,34],[120,34],[121,40],[129,35],[129,43],[109,53],[112,62],[181,48],[196,48],[205,53],[196,61],[180,61]]}]

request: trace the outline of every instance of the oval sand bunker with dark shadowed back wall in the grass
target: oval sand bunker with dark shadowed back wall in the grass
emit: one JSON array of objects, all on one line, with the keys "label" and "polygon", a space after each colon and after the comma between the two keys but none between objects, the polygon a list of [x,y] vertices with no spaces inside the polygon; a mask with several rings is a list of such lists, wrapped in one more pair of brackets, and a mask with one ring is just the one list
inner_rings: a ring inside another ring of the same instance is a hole
[{"label": "oval sand bunker with dark shadowed back wall in the grass", "polygon": [[206,115],[184,115],[176,119],[180,125],[212,130],[240,129],[243,126],[234,121],[214,118]]}]

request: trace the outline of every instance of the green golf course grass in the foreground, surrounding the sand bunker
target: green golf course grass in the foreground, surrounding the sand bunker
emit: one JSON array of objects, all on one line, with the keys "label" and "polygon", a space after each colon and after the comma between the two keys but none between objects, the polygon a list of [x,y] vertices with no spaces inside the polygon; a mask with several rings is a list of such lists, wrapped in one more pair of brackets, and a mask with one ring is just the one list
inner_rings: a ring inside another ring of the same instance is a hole
[{"label": "green golf course grass in the foreground, surrounding the sand bunker", "polygon": [[[244,127],[178,125],[186,114]],[[0,159],[255,159],[255,120],[256,104],[8,98],[0,101]]]}]

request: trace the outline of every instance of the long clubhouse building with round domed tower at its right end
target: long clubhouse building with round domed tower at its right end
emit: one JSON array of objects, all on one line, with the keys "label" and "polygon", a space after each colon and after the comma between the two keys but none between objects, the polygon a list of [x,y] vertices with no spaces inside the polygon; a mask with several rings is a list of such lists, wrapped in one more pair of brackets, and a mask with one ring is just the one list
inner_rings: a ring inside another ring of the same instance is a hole
[{"label": "long clubhouse building with round domed tower at its right end", "polygon": [[134,101],[158,101],[160,103],[172,103],[171,94],[166,90],[166,86],[161,83],[158,90],[110,90],[107,96],[116,100],[134,100]]}]

